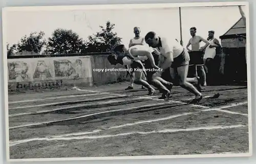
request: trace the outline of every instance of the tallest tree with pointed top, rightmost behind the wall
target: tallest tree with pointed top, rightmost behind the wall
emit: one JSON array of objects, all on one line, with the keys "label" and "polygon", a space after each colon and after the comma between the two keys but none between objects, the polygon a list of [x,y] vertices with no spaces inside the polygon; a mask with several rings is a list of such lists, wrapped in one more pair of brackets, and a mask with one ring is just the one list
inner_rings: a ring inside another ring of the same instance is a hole
[{"label": "tallest tree with pointed top, rightmost behind the wall", "polygon": [[105,27],[99,27],[101,31],[88,37],[86,52],[112,52],[114,47],[121,43],[122,38],[113,32],[115,24],[107,21]]}]

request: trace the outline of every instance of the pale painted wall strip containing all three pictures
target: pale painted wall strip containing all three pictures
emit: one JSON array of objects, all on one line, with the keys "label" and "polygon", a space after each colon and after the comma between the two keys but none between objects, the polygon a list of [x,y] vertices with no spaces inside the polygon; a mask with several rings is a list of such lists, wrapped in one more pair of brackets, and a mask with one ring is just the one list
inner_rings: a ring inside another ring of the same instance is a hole
[{"label": "pale painted wall strip containing all three pictures", "polygon": [[47,58],[9,61],[9,82],[77,80],[86,74],[83,74],[85,70],[83,70],[82,60],[79,58]]}]

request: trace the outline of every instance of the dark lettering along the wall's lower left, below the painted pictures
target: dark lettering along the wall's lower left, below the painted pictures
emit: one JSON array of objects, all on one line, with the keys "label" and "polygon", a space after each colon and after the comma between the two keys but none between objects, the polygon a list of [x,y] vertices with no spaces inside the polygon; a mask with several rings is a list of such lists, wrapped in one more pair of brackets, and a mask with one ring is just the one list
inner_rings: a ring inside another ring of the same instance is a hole
[{"label": "dark lettering along the wall's lower left, below the painted pictures", "polygon": [[62,85],[62,80],[44,82],[17,82],[8,83],[8,90],[34,89],[34,88],[55,88]]}]

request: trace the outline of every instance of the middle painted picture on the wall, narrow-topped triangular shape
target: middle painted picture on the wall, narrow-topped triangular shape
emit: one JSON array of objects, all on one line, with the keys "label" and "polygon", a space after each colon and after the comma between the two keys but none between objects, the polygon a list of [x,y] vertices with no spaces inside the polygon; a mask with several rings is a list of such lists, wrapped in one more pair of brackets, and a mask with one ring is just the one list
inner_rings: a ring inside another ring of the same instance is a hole
[{"label": "middle painted picture on the wall, narrow-topped triangular shape", "polygon": [[44,80],[45,78],[52,78],[45,61],[37,62],[33,78],[39,78],[41,80]]}]

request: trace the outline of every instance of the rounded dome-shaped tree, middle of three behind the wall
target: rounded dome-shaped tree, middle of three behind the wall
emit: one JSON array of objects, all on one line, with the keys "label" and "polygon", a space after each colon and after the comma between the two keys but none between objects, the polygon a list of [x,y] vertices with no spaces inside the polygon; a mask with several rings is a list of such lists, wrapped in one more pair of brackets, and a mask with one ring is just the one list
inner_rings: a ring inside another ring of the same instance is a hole
[{"label": "rounded dome-shaped tree, middle of three behind the wall", "polygon": [[82,53],[86,44],[79,35],[72,30],[56,29],[52,37],[48,38],[46,54],[73,54]]}]

